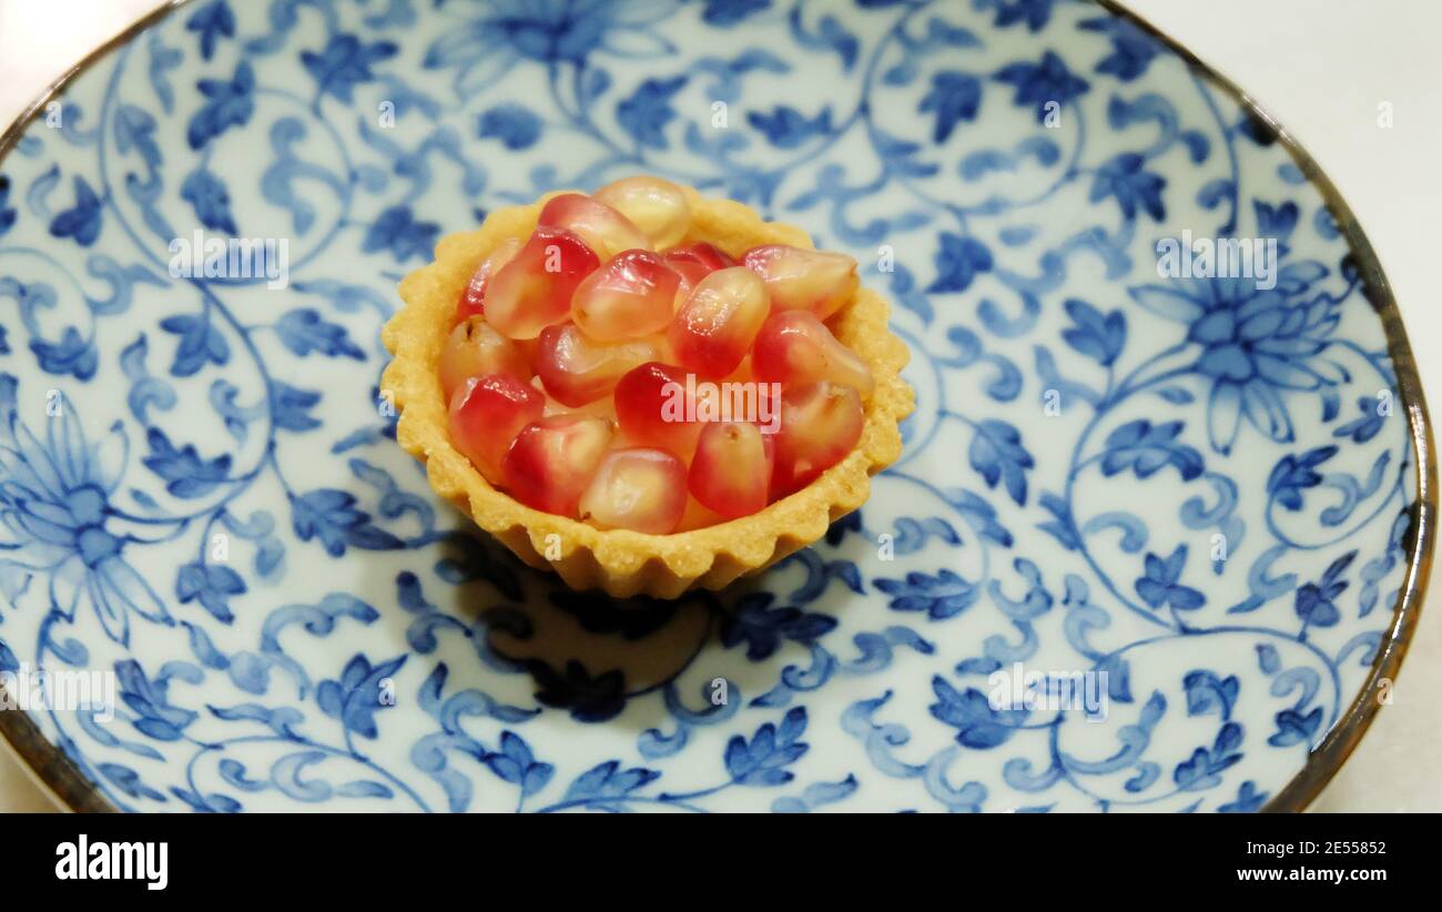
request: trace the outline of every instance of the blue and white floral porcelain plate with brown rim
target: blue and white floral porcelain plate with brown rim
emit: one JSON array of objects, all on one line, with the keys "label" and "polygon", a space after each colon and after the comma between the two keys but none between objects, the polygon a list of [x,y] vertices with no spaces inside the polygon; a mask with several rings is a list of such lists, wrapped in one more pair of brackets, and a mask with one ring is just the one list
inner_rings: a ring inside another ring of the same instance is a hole
[{"label": "blue and white floral porcelain plate with brown rim", "polygon": [[[0,670],[115,687],[0,727],[72,807],[1299,808],[1416,621],[1376,257],[1110,6],[196,0],[0,152]],[[376,395],[437,238],[629,173],[852,253],[919,401],[859,514],[675,603],[473,535]],[[287,268],[186,268],[239,238]]]}]

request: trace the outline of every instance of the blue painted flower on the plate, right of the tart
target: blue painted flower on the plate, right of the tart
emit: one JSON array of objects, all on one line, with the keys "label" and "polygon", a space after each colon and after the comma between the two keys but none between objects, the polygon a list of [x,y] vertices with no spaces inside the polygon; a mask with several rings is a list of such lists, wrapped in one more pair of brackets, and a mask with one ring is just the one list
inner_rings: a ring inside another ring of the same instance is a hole
[{"label": "blue painted flower on the plate, right of the tart", "polygon": [[1276,440],[1293,439],[1282,394],[1343,382],[1341,368],[1317,355],[1338,323],[1338,302],[1308,296],[1327,274],[1319,263],[1279,267],[1276,287],[1253,279],[1190,279],[1131,289],[1161,316],[1188,325],[1201,346],[1194,369],[1211,382],[1207,433],[1211,447],[1230,453],[1242,420]]}]

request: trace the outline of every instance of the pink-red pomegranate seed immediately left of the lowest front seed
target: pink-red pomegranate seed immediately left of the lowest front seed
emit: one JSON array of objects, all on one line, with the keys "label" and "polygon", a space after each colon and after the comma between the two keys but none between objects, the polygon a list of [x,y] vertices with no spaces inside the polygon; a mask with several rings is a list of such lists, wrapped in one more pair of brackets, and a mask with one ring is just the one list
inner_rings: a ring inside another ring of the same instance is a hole
[{"label": "pink-red pomegranate seed immediately left of the lowest front seed", "polygon": [[502,462],[502,478],[513,498],[561,517],[577,515],[581,492],[611,442],[606,418],[568,414],[539,418],[525,427]]}]

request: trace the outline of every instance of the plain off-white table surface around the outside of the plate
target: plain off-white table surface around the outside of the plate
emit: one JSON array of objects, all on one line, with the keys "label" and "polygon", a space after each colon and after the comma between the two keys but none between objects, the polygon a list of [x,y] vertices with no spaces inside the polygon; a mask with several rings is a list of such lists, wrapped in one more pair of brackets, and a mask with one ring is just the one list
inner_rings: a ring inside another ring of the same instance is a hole
[{"label": "plain off-white table surface around the outside of the plate", "polygon": [[[0,0],[0,126],[153,6]],[[1381,257],[1442,420],[1442,1],[1129,6],[1252,92],[1337,183]],[[1377,123],[1383,102],[1392,128]],[[1442,579],[1433,580],[1393,697],[1314,810],[1442,811]],[[0,812],[52,807],[0,752]]]}]

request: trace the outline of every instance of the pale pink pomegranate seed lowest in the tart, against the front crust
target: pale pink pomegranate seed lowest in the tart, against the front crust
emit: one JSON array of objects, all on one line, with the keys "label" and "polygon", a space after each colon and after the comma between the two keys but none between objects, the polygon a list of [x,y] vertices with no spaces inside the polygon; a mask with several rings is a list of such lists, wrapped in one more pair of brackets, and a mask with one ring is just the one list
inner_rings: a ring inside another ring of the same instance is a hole
[{"label": "pale pink pomegranate seed lowest in the tart, against the front crust", "polygon": [[611,450],[580,509],[583,519],[601,528],[669,535],[686,512],[686,466],[666,450]]}]

